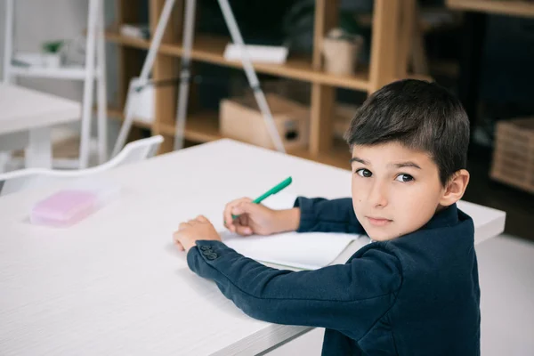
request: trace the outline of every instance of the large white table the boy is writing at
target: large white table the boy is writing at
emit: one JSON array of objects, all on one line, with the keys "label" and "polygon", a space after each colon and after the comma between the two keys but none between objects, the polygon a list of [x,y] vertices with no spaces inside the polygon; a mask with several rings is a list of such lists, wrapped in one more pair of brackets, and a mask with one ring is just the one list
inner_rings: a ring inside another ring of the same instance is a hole
[{"label": "large white table the boy is writing at", "polygon": [[0,198],[0,354],[252,355],[309,331],[247,317],[171,242],[288,175],[288,193],[350,196],[349,171],[221,140],[101,174],[121,197],[69,229],[28,223],[59,186]]}]

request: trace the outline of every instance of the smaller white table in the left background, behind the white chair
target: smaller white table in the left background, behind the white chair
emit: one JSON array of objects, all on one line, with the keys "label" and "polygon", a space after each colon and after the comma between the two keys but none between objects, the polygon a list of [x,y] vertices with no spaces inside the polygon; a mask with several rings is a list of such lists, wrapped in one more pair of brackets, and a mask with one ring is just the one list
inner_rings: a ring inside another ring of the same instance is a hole
[{"label": "smaller white table in the left background, behind the white chair", "polygon": [[0,151],[26,148],[26,166],[51,168],[51,127],[80,116],[77,101],[0,84]]}]

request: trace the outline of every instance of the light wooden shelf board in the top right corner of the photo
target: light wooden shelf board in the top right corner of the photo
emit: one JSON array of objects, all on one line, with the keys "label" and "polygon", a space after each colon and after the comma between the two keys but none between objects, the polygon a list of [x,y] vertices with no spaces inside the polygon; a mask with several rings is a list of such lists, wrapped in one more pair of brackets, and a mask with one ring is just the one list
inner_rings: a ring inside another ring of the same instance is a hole
[{"label": "light wooden shelf board in the top right corner of the photo", "polygon": [[521,0],[447,0],[451,9],[534,17],[534,3]]}]

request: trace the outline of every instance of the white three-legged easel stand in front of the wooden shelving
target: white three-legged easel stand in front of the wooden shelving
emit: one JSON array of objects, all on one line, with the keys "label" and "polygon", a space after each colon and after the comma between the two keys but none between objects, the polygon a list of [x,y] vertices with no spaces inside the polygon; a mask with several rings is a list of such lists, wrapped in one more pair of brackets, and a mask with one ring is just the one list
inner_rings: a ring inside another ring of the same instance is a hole
[{"label": "white three-legged easel stand in front of the wooden shelving", "polygon": [[[243,43],[243,37],[239,31],[238,24],[231,12],[230,4],[228,0],[218,0],[221,11],[223,12],[223,17],[228,26],[232,41],[239,46],[241,52],[241,62],[243,64],[243,69],[247,75],[248,84],[253,89],[255,94],[255,100],[257,101],[258,107],[263,114],[263,121],[267,126],[269,134],[271,134],[271,140],[274,143],[274,146],[280,152],[285,152],[284,145],[280,139],[279,132],[276,129],[274,120],[272,118],[271,109],[262,88],[258,77],[255,74],[254,66],[250,61],[250,57],[247,52],[247,48]],[[149,84],[149,75],[150,69],[154,64],[156,58],[156,53],[158,53],[159,44],[161,43],[161,37],[166,28],[171,11],[173,10],[174,0],[166,0],[161,15],[158,20],[158,26],[154,32],[154,36],[150,42],[150,49],[147,55],[146,60],[143,63],[141,75],[139,76],[136,85],[130,85],[128,90],[128,96],[125,103],[125,121],[120,129],[120,132],[117,137],[117,142],[115,148],[113,149],[112,155],[115,156],[125,145],[126,137],[130,131],[132,123],[134,121],[134,112],[135,105],[137,104],[133,100],[132,91],[142,90],[144,86]],[[176,131],[174,134],[174,149],[180,150],[183,147],[183,137],[185,130],[185,120],[187,114],[187,101],[189,96],[189,82],[190,82],[190,52],[193,44],[193,25],[195,19],[195,7],[196,0],[187,0],[185,4],[185,21],[183,24],[183,54],[182,54],[182,70],[180,74],[180,89],[178,93],[178,106],[176,110]]]}]

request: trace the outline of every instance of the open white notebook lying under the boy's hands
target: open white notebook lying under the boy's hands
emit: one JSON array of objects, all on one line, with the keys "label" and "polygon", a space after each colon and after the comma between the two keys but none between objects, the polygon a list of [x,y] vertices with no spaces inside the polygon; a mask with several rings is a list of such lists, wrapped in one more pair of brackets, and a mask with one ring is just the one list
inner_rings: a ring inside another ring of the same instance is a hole
[{"label": "open white notebook lying under the boy's hands", "polygon": [[[273,209],[286,209],[293,206],[295,198],[294,195],[279,193],[263,200],[263,205]],[[344,252],[353,241],[360,239],[360,235],[355,234],[323,232],[287,232],[271,236],[242,237],[224,231],[221,237],[226,245],[241,255],[262,263],[303,270],[316,270],[329,264],[346,262],[352,253],[347,255]],[[357,245],[365,245],[368,239],[365,240],[359,240]]]}]

